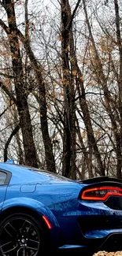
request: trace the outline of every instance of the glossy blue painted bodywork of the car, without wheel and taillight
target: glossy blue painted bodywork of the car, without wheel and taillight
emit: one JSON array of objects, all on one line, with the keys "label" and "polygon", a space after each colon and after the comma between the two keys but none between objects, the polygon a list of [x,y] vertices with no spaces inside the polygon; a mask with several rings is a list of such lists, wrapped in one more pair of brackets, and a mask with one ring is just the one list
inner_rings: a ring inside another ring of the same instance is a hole
[{"label": "glossy blue painted bodywork of the car, without wheel and taillight", "polygon": [[46,216],[54,248],[97,250],[110,235],[122,234],[122,210],[79,198],[87,184],[12,162],[0,163],[0,169],[12,174],[9,184],[0,186],[0,211],[23,207],[40,219]]}]

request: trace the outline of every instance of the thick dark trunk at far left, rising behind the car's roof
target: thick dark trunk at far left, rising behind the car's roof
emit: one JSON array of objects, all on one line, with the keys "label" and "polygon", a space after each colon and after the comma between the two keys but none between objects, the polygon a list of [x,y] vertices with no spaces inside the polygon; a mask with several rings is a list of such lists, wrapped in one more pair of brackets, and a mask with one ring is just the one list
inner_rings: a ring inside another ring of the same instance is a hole
[{"label": "thick dark trunk at far left, rising behind the car's roof", "polygon": [[37,167],[35,143],[32,134],[31,117],[28,109],[27,88],[24,83],[22,60],[20,56],[20,44],[17,37],[17,23],[13,0],[4,1],[9,30],[7,32],[12,54],[13,76],[17,97],[17,110],[20,117],[20,128],[23,135],[25,165]]}]

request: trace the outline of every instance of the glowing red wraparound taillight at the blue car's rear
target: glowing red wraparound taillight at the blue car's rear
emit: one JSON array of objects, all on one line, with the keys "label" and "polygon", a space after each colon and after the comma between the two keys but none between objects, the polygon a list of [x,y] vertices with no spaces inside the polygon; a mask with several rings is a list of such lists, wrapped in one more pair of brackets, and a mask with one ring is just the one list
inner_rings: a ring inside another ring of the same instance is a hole
[{"label": "glowing red wraparound taillight at the blue car's rear", "polygon": [[105,201],[110,195],[122,196],[120,187],[93,187],[83,191],[83,200]]}]

